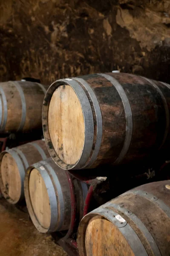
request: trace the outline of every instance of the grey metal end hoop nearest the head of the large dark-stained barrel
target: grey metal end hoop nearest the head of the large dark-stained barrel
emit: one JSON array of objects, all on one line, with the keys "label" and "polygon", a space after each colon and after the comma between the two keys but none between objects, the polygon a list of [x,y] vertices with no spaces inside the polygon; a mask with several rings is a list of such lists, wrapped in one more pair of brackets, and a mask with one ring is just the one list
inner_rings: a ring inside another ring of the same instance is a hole
[{"label": "grey metal end hoop nearest the head of the large dark-stained barrel", "polygon": [[[66,78],[66,79],[59,79],[56,82],[61,82],[61,81],[64,82],[65,84],[70,85],[75,91],[80,101],[83,116],[84,116],[84,127],[85,127],[84,148],[78,162],[75,165],[73,165],[72,168],[69,168],[69,169],[82,169],[82,166],[84,166],[84,164],[89,159],[89,156],[92,150],[93,140],[94,140],[94,121],[93,121],[92,108],[84,89],[81,87],[81,85],[77,81],[70,78]],[[58,86],[60,86],[60,84]],[[57,162],[55,161],[55,163]],[[63,166],[62,168],[67,169],[67,164],[65,164],[65,167]]]}]

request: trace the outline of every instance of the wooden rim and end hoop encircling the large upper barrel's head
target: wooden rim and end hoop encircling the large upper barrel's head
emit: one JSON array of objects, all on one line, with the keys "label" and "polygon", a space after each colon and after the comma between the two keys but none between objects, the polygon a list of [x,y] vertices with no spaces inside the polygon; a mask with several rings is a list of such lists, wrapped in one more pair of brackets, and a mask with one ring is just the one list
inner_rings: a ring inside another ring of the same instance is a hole
[{"label": "wooden rim and end hoop encircling the large upper barrel's head", "polygon": [[[76,95],[78,96],[79,102],[81,104],[81,109],[84,116],[84,128],[85,128],[84,129],[85,130],[84,146],[83,146],[82,153],[79,160],[74,164],[66,164],[58,157],[55,151],[55,148],[52,145],[49,128],[48,128],[48,112],[49,112],[49,104],[52,98],[52,94],[55,92],[55,90],[59,86],[64,84],[71,86],[72,89],[75,91]],[[89,99],[86,95],[86,92],[84,91],[84,88],[81,87],[78,81],[74,79],[69,79],[69,78],[58,79],[57,81],[53,82],[50,85],[43,101],[42,125],[43,125],[43,135],[46,141],[46,146],[54,162],[64,170],[81,169],[81,166],[84,166],[86,164],[92,151],[92,145],[94,140],[94,120],[93,120],[93,113],[92,113],[92,108],[91,108]]]}]

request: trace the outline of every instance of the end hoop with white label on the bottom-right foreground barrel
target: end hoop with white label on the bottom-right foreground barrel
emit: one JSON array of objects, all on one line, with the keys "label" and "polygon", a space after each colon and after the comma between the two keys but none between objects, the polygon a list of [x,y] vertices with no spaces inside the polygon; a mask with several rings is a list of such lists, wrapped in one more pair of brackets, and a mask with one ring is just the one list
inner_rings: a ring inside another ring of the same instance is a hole
[{"label": "end hoop with white label on the bottom-right foreground barrel", "polygon": [[[104,206],[106,207],[107,204]],[[103,216],[107,220],[109,220],[112,224],[114,224],[120,232],[124,235],[125,239],[128,241],[131,249],[133,250],[134,255],[136,256],[148,256],[147,251],[144,248],[144,245],[142,244],[141,240],[136,235],[135,231],[130,227],[130,225],[127,223],[127,221],[124,220],[118,213],[112,211],[111,209],[103,207],[98,207],[97,209],[93,210],[89,214],[96,214]],[[88,216],[88,215],[87,215]],[[120,221],[117,216],[120,216]],[[86,217],[86,216],[85,216]],[[121,221],[123,220],[123,221]]]}]

